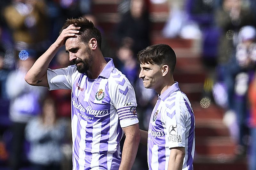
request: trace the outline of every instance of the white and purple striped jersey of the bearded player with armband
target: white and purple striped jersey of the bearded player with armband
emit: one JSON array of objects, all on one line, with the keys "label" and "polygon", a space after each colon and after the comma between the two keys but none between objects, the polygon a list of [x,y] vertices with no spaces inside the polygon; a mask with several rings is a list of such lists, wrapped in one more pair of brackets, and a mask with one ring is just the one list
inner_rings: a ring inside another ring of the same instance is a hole
[{"label": "white and purple striped jersey of the bearded player with armband", "polygon": [[123,127],[139,123],[135,92],[108,62],[97,79],[76,66],[47,70],[49,89],[72,89],[73,170],[117,170],[121,162]]}]

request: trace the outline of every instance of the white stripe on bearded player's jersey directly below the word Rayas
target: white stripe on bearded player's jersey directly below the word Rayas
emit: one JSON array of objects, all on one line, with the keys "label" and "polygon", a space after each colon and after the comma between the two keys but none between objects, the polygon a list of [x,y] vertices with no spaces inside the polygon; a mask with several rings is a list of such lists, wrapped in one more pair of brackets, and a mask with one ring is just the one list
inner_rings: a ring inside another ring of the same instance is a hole
[{"label": "white stripe on bearded player's jersey directly below the word Rayas", "polygon": [[[91,168],[99,169],[100,159],[100,137],[101,137],[101,122],[96,122],[92,125],[92,162]],[[97,140],[95,140],[97,139]]]}]

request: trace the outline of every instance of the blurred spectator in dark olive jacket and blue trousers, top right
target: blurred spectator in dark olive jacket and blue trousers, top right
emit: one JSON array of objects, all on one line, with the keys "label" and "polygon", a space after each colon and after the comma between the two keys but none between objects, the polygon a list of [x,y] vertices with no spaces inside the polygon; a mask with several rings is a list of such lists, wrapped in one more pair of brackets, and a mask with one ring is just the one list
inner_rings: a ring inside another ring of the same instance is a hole
[{"label": "blurred spectator in dark olive jacket and blue trousers, top right", "polygon": [[223,0],[222,6],[216,12],[215,19],[220,28],[216,81],[224,82],[228,94],[226,109],[234,111],[237,35],[241,27],[254,24],[253,16],[251,11],[242,5],[241,0]]}]

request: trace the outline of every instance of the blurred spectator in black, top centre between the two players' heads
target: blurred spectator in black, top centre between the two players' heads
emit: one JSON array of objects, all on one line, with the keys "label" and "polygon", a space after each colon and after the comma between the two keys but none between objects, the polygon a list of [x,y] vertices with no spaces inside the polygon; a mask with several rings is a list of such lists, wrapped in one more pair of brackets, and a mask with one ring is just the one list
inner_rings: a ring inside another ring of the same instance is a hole
[{"label": "blurred spectator in black, top centre between the two players' heads", "polygon": [[116,25],[114,36],[117,45],[131,39],[132,51],[137,54],[141,49],[150,45],[150,21],[146,0],[131,0],[130,5],[130,10]]}]

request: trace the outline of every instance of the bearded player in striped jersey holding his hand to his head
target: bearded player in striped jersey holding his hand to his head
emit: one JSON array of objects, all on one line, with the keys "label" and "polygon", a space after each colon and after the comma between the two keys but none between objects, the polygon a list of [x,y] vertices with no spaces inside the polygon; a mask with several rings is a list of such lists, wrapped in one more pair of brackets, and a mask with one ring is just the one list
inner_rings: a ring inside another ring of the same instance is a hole
[{"label": "bearded player in striped jersey holding his hand to his head", "polygon": [[[49,69],[64,44],[75,65]],[[72,89],[73,170],[131,169],[140,142],[134,89],[113,60],[103,58],[100,45],[100,31],[91,21],[68,19],[25,77],[29,84],[50,90]]]}]

